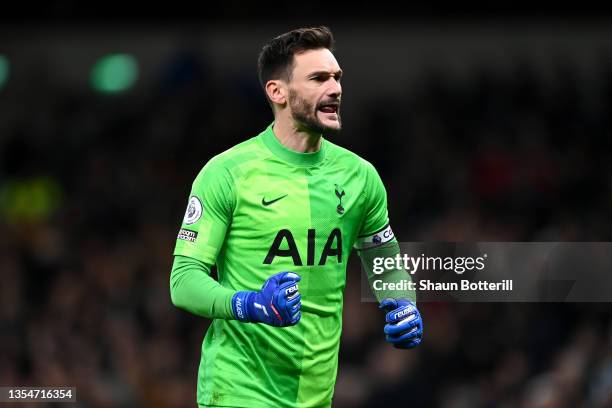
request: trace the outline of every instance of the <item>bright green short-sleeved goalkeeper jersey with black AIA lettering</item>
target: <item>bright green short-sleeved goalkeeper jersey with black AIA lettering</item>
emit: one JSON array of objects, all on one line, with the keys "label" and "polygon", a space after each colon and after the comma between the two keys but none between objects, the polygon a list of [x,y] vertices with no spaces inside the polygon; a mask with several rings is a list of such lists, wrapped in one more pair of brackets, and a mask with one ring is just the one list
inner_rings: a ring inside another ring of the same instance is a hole
[{"label": "bright green short-sleeved goalkeeper jersey with black AIA lettering", "polygon": [[[349,254],[391,240],[376,170],[327,140],[315,153],[298,153],[278,141],[272,124],[212,158],[193,183],[174,255],[216,264],[230,293],[296,272],[302,318],[283,328],[214,319],[202,345],[198,403],[330,406]],[[224,302],[231,311],[231,297]]]}]

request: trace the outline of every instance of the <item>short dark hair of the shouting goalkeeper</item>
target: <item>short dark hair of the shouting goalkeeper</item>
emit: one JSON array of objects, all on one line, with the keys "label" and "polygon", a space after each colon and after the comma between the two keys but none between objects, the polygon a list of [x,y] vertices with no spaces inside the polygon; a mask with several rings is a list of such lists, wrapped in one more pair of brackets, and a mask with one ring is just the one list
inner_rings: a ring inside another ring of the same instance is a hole
[{"label": "short dark hair of the shouting goalkeeper", "polygon": [[257,74],[262,88],[265,89],[271,79],[291,80],[294,55],[320,48],[334,50],[334,36],[325,26],[298,28],[268,41],[257,58]]}]

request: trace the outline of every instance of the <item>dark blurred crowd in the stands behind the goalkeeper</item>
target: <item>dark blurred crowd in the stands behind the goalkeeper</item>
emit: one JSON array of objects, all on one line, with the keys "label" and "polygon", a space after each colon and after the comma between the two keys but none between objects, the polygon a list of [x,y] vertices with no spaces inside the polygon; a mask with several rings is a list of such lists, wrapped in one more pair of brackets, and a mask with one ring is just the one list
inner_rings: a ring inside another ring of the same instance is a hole
[{"label": "dark blurred crowd in the stands behind the goalkeeper", "polygon": [[[547,81],[528,60],[424,68],[353,103],[336,142],[379,170],[402,241],[609,241],[611,61],[582,78],[560,59]],[[251,70],[185,54],[160,75],[120,95],[0,92],[0,385],[194,406],[209,322],[171,305],[176,233],[199,169],[272,115]],[[360,273],[352,259],[334,406],[612,406],[608,304],[423,303],[424,343],[401,351]]]}]

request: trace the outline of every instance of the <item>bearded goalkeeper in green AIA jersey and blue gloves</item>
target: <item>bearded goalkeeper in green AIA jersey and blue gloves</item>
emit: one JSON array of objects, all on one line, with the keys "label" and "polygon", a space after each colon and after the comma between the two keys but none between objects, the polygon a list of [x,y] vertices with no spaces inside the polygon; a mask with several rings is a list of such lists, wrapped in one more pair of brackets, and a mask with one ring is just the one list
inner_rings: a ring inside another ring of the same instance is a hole
[{"label": "bearded goalkeeper in green AIA jersey and blue gloves", "polygon": [[[374,257],[399,253],[376,170],[323,138],[342,127],[332,47],[326,27],[266,44],[258,71],[274,122],[212,158],[193,183],[171,296],[214,319],[202,345],[200,406],[330,406],[351,248],[368,271]],[[209,276],[215,263],[218,282]],[[387,341],[418,345],[422,323],[410,295],[377,296],[388,311]]]}]

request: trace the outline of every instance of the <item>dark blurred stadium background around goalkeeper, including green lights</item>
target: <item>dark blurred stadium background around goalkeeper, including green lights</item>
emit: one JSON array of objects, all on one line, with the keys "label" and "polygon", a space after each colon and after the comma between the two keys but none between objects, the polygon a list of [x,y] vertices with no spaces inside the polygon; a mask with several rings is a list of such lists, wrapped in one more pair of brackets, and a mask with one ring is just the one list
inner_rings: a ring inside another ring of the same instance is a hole
[{"label": "dark blurred stadium background around goalkeeper, including green lights", "polygon": [[[105,5],[0,16],[0,385],[193,406],[208,322],[170,304],[176,232],[201,166],[272,119],[259,48],[301,25],[335,33],[334,141],[379,170],[400,240],[610,241],[605,13]],[[347,274],[335,407],[612,405],[610,304],[424,303],[406,352]]]}]

